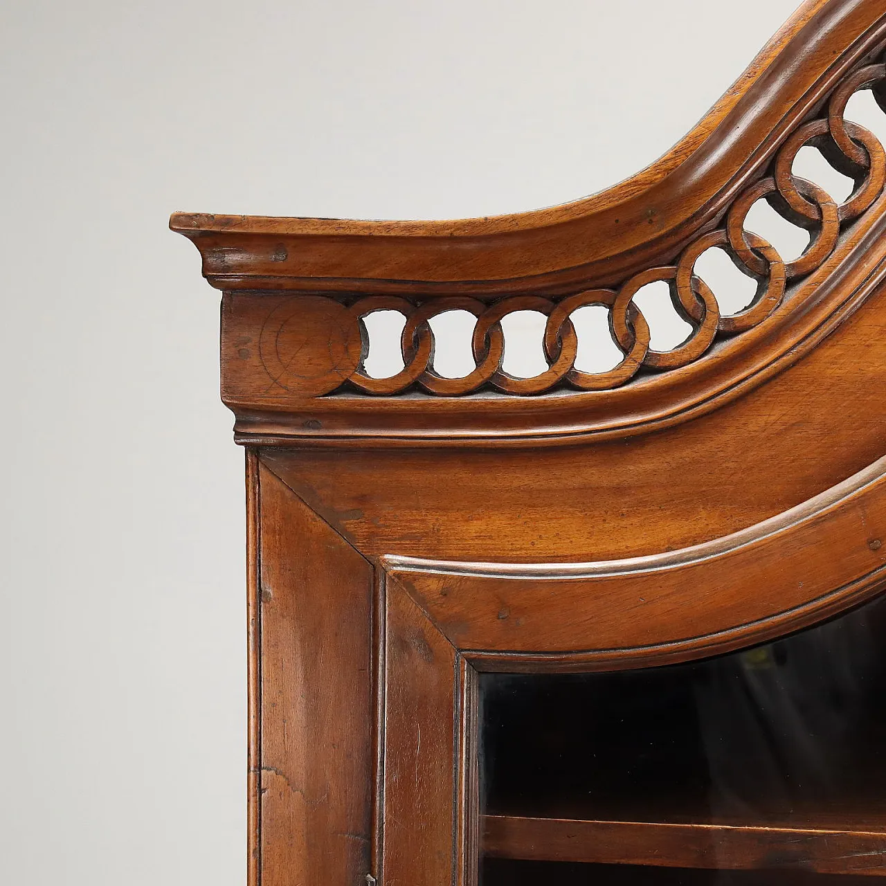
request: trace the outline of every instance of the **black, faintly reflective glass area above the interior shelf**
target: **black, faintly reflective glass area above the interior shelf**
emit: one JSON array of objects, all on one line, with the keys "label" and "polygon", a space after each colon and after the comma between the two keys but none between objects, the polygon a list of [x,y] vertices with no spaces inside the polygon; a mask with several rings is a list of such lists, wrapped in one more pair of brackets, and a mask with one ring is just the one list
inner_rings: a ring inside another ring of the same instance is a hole
[{"label": "black, faintly reflective glass area above the interior shelf", "polygon": [[484,811],[879,829],[884,621],[878,598],[688,664],[483,674]]}]

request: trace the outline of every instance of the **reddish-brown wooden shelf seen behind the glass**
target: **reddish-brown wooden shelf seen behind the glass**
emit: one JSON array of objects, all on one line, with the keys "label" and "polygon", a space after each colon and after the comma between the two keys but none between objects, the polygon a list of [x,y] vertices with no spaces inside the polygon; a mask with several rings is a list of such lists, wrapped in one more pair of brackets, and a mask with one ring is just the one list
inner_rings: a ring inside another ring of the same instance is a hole
[{"label": "reddish-brown wooden shelf seen behind the glass", "polygon": [[886,829],[657,824],[485,815],[482,851],[493,858],[604,865],[796,868],[886,876]]}]

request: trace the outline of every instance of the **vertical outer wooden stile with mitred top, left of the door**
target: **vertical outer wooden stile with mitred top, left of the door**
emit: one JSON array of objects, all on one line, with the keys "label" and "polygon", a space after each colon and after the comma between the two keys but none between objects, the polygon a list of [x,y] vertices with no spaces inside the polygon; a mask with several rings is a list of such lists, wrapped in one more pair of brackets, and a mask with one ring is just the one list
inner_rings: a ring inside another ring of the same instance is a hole
[{"label": "vertical outer wooden stile with mitred top, left of the door", "polygon": [[262,886],[369,873],[372,567],[260,468]]}]

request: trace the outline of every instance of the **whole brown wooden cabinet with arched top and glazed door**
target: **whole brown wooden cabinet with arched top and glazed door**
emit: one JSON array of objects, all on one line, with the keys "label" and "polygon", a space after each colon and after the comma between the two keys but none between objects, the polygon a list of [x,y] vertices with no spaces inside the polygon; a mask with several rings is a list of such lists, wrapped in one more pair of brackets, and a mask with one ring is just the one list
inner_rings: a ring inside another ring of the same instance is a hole
[{"label": "whole brown wooden cabinet with arched top and glazed door", "polygon": [[[664,158],[553,209],[173,216],[247,454],[252,886],[886,875],[886,155],[844,117],[886,106],[884,41],[880,0],[804,4]],[[761,199],[804,253],[750,229]],[[711,249],[757,283],[737,310]]]}]

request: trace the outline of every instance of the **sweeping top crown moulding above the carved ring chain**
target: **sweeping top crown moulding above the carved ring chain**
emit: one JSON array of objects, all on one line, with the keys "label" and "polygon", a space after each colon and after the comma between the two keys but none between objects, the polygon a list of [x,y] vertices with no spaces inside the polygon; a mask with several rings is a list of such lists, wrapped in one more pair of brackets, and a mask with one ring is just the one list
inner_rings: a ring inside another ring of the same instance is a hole
[{"label": "sweeping top crown moulding above the carved ring chain", "polygon": [[[459,221],[176,213],[226,291],[563,295],[667,264],[758,177],[886,35],[886,0],[810,0],[688,136],[625,182],[536,212]],[[870,59],[873,60],[873,59]]]}]

